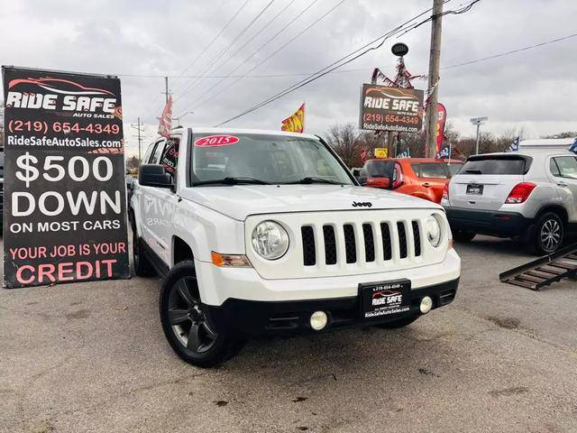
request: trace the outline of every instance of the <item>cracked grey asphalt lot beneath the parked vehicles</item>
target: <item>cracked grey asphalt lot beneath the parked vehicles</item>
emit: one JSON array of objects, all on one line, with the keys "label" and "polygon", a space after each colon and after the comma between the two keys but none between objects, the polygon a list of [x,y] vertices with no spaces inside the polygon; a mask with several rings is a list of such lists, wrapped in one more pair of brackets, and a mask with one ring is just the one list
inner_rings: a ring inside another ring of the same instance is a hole
[{"label": "cracked grey asphalt lot beneath the parked vehicles", "polygon": [[0,431],[575,431],[577,287],[499,283],[531,260],[457,244],[457,299],[405,329],[170,350],[158,279],[0,290]]}]

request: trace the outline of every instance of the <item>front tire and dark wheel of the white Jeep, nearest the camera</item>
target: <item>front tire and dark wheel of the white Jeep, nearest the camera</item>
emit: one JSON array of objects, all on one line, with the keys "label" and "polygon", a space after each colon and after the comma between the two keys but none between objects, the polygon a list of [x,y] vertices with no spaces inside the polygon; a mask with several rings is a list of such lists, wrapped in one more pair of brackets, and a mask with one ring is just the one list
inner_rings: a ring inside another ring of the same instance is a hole
[{"label": "front tire and dark wheel of the white Jeep, nearest the camera", "polygon": [[160,322],[172,350],[188,364],[213,367],[230,359],[242,343],[216,333],[216,324],[200,299],[195,264],[176,264],[162,282]]}]

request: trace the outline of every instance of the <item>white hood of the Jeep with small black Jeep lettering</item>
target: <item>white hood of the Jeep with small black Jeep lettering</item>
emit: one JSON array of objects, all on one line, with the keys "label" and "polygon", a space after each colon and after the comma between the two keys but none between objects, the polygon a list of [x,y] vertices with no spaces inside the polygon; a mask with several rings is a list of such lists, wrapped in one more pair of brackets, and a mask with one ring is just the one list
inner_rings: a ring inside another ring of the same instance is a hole
[{"label": "white hood of the Jeep with small black Jeep lettering", "polygon": [[[353,185],[237,185],[184,189],[182,197],[243,221],[250,215],[331,210],[435,208],[422,198]],[[353,207],[353,203],[365,206]],[[371,204],[369,207],[368,204]]]}]

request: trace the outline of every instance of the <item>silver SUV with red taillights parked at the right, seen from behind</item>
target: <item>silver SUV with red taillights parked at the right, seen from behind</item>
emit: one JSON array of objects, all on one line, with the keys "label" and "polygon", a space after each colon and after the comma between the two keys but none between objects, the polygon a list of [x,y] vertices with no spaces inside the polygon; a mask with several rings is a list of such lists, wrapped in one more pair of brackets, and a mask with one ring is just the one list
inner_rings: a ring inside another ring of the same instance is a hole
[{"label": "silver SUV with red taillights parked at the right, seen from behind", "polygon": [[528,151],[470,157],[443,200],[453,236],[518,237],[535,253],[554,253],[577,227],[577,156]]}]

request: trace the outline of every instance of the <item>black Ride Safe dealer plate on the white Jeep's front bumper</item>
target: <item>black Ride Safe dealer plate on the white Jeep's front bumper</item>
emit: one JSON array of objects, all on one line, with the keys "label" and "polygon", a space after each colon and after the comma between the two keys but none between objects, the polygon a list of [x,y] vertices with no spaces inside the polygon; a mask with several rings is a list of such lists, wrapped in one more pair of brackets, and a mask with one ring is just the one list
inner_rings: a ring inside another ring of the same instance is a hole
[{"label": "black Ride Safe dealer plate on the white Jeep's front bumper", "polygon": [[411,306],[411,281],[384,281],[359,285],[363,318],[405,313]]}]

